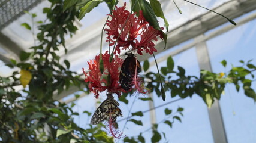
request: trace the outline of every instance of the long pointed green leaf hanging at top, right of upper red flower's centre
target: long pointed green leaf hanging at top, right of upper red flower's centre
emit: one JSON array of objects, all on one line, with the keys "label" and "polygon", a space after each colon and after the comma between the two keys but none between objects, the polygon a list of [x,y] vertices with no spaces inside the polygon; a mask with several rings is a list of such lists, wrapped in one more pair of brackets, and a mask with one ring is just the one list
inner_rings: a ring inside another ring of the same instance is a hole
[{"label": "long pointed green leaf hanging at top, right of upper red flower's centre", "polygon": [[167,19],[164,17],[164,12],[162,12],[160,2],[158,0],[150,0],[150,5],[153,8],[155,15],[157,17],[161,17],[164,20],[164,26],[166,28],[166,31],[168,32],[169,23],[168,23]]}]

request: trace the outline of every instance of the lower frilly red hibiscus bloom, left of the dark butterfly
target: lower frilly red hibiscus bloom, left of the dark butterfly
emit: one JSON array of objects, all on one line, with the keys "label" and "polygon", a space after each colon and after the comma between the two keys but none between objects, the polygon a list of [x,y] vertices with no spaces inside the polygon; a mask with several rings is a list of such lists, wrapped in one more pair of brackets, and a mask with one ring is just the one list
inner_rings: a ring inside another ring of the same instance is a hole
[{"label": "lower frilly red hibiscus bloom, left of the dark butterfly", "polygon": [[109,62],[109,53],[106,51],[102,55],[104,71],[100,72],[100,55],[97,55],[94,60],[88,62],[89,71],[85,74],[85,82],[89,83],[89,91],[94,92],[95,97],[98,98],[99,93],[107,89],[110,93],[116,93],[121,95],[121,91],[124,91],[119,83],[119,67],[122,64],[122,59],[117,55],[113,57],[112,62]]}]

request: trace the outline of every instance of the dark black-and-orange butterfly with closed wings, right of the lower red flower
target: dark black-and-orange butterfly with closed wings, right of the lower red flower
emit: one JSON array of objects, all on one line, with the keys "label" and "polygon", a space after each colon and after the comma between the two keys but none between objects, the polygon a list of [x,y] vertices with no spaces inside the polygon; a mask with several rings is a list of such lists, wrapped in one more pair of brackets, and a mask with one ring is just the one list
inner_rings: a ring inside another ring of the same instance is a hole
[{"label": "dark black-and-orange butterfly with closed wings, right of the lower red flower", "polygon": [[133,86],[132,80],[134,79],[135,70],[137,69],[138,75],[138,73],[140,73],[141,71],[141,66],[140,61],[138,61],[137,58],[134,57],[134,54],[129,52],[125,53],[125,55],[127,55],[127,58],[125,58],[125,61],[122,64],[119,74],[119,81],[122,88],[125,91],[129,91]]}]

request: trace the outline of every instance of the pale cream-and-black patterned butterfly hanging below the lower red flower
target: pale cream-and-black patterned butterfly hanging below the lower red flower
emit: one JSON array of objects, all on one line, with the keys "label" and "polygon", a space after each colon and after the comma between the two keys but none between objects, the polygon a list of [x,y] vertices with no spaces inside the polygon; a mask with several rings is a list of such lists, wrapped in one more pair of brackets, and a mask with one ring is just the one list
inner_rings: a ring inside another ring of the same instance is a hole
[{"label": "pale cream-and-black patterned butterfly hanging below the lower red flower", "polygon": [[111,117],[112,122],[116,122],[116,118],[122,116],[122,111],[118,106],[119,103],[114,97],[111,94],[107,95],[107,99],[101,103],[92,116],[91,124],[97,125],[104,120],[109,120],[109,117]]}]

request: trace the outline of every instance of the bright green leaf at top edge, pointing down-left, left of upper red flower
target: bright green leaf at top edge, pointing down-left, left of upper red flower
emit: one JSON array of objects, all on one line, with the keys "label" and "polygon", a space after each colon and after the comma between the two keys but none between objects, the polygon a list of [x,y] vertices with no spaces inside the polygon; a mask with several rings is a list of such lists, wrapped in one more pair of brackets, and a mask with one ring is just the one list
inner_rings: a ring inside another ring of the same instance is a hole
[{"label": "bright green leaf at top edge, pointing down-left, left of upper red flower", "polygon": [[83,17],[85,17],[86,13],[89,13],[92,9],[97,7],[101,2],[103,2],[103,1],[92,0],[92,1],[87,2],[86,5],[80,9],[79,20],[81,20]]}]

